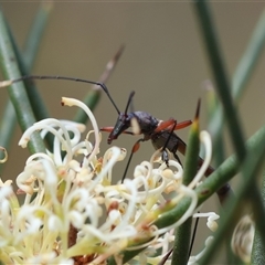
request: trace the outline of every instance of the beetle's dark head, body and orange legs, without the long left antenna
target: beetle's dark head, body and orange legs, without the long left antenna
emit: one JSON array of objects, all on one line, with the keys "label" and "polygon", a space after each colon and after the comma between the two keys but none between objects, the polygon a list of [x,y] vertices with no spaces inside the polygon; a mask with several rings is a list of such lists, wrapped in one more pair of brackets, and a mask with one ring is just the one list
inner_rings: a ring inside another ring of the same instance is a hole
[{"label": "beetle's dark head, body and orange legs, without the long left antenna", "polygon": [[[192,124],[191,120],[184,120],[178,124],[177,120],[173,118],[170,118],[168,120],[159,120],[156,117],[153,117],[151,114],[146,112],[128,113],[128,108],[134,95],[135,95],[135,92],[131,92],[124,113],[120,113],[117,105],[114,103],[113,99],[110,99],[118,113],[117,121],[114,127],[100,128],[102,131],[109,132],[109,136],[107,139],[107,142],[109,145],[113,142],[113,140],[117,139],[120,134],[135,135],[132,131],[127,130],[129,127],[132,127],[131,124],[134,119],[138,127],[137,135],[144,135],[144,137],[137,140],[132,147],[121,182],[124,182],[131,157],[139,149],[139,145],[141,141],[151,140],[151,144],[156,150],[162,148],[162,160],[167,163],[167,166],[168,166],[169,158],[166,149],[172,152],[173,157],[180,162],[177,151],[179,150],[184,155],[186,144],[173,132],[173,130],[186,128]],[[108,94],[108,97],[110,97],[109,94]]]}]

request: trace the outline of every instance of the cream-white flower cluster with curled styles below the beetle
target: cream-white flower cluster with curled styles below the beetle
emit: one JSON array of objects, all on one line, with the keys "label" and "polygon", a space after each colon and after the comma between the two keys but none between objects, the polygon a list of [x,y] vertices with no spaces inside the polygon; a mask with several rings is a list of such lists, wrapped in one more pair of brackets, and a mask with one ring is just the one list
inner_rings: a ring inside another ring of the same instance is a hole
[{"label": "cream-white flower cluster with curled styles below the beetle", "polygon": [[[22,147],[36,130],[43,138],[52,134],[53,150],[26,160],[17,178],[22,202],[11,181],[0,182],[0,259],[4,264],[106,264],[114,256],[121,264],[121,251],[145,246],[134,259],[158,264],[174,240],[173,229],[195,212],[193,189],[210,162],[209,135],[201,135],[205,162],[188,187],[182,184],[183,170],[177,161],[169,161],[170,169],[155,163],[159,151],[135,168],[131,180],[113,183],[113,168],[126,150],[112,147],[100,155],[100,132],[91,110],[76,99],[62,103],[83,108],[93,130],[82,140],[84,125],[49,118],[23,134]],[[162,229],[152,225],[184,197],[191,203],[177,223]]]}]

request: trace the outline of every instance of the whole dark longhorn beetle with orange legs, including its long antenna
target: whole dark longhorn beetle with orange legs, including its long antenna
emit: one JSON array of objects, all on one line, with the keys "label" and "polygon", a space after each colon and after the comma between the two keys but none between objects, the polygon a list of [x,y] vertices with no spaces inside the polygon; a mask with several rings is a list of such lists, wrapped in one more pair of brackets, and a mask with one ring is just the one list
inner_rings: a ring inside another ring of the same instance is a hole
[{"label": "whole dark longhorn beetle with orange legs, including its long antenna", "polygon": [[[181,140],[174,132],[173,130],[178,130],[181,128],[184,128],[189,125],[191,125],[191,120],[186,120],[182,123],[177,124],[177,121],[172,118],[168,120],[159,120],[155,118],[152,115],[146,112],[134,112],[134,113],[128,113],[129,105],[131,103],[131,99],[135,95],[135,92],[131,92],[125,108],[125,113],[120,113],[118,109],[117,105],[115,104],[114,99],[112,98],[107,86],[104,83],[100,82],[94,82],[94,81],[88,81],[88,80],[83,80],[83,78],[75,78],[75,77],[67,77],[67,76],[57,76],[57,75],[24,75],[15,80],[10,80],[10,81],[3,81],[0,82],[0,87],[9,86],[13,83],[25,81],[25,80],[64,80],[64,81],[73,81],[73,82],[81,82],[81,83],[88,83],[92,85],[98,85],[103,88],[103,91],[106,93],[107,97],[112,102],[113,106],[115,107],[116,112],[118,113],[118,118],[116,121],[116,125],[114,127],[104,127],[100,130],[103,131],[109,131],[108,136],[108,144],[112,144],[113,140],[117,139],[120,134],[128,134],[128,135],[134,135],[132,131],[128,131],[127,129],[131,127],[131,120],[136,119],[137,124],[139,126],[139,134],[144,135],[144,138],[139,139],[132,147],[132,151],[129,158],[129,161],[132,157],[132,153],[136,152],[139,149],[139,144],[140,141],[147,141],[151,140],[152,146],[155,149],[160,149],[163,148],[163,150],[167,148],[170,152],[173,153],[174,158],[179,160],[177,151],[181,152],[182,155],[186,155],[186,142]],[[165,146],[166,145],[166,146]],[[163,151],[162,152],[162,158],[167,162],[167,155]],[[126,171],[128,169],[128,165],[126,167]],[[199,158],[199,166],[203,160]],[[121,179],[121,182],[124,181],[125,174]],[[214,171],[212,167],[209,167],[205,176],[208,177]],[[230,191],[230,186],[226,183],[220,190],[218,191],[219,198],[222,202],[224,198],[226,197],[227,192]]]}]

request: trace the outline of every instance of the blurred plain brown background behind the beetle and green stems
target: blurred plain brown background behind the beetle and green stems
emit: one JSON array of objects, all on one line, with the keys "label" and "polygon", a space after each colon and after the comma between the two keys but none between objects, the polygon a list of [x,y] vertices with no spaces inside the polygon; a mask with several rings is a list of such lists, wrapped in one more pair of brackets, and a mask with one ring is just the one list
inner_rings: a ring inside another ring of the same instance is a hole
[{"label": "blurred plain brown background behind the beetle and green stems", "polygon": [[[21,49],[39,4],[1,3]],[[211,2],[211,8],[227,72],[232,76],[265,3],[219,1]],[[174,117],[181,121],[193,118],[197,100],[201,97],[201,128],[204,129],[206,89],[203,83],[212,77],[192,3],[56,1],[32,74],[97,81],[120,44],[126,45],[125,52],[107,83],[120,110],[124,110],[129,92],[134,89],[136,110],[149,112],[160,119]],[[264,67],[263,56],[239,107],[247,137],[265,119]],[[36,84],[55,118],[72,118],[76,110],[61,107],[62,96],[82,99],[91,88],[84,84],[59,81],[39,81]],[[0,93],[0,104],[4,106],[7,92],[2,89]],[[105,95],[95,115],[99,127],[113,126],[117,118],[115,108]],[[29,155],[18,147],[21,136],[18,127],[15,135],[3,179],[17,177]],[[179,135],[187,139],[188,129]],[[121,136],[114,145],[130,150],[137,139]],[[102,150],[107,148],[106,140],[107,134],[104,134]],[[230,140],[227,146],[231,146]],[[150,142],[142,144],[132,159],[132,166],[149,159],[152,152]],[[119,178],[120,171],[115,172]]]}]

